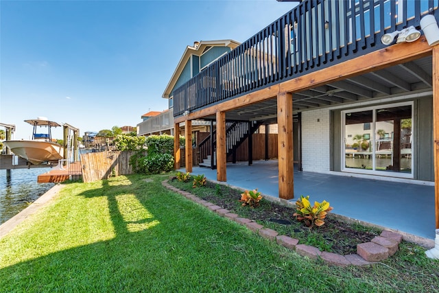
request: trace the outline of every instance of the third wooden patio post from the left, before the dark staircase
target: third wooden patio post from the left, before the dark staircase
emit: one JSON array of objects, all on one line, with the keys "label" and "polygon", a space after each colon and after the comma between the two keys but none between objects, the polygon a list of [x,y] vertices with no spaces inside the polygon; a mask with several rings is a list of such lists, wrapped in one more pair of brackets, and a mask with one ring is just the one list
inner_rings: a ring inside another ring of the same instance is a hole
[{"label": "third wooden patio post from the left, before the dark staircase", "polygon": [[217,180],[226,182],[226,112],[217,112]]}]

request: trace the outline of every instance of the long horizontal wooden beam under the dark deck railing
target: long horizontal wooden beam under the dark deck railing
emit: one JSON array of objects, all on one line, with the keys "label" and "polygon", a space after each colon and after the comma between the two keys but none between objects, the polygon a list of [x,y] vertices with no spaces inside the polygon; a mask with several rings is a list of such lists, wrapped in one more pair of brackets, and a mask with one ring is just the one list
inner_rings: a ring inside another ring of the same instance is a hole
[{"label": "long horizontal wooden beam under the dark deck railing", "polygon": [[[316,86],[324,86],[338,80],[345,80],[364,73],[370,73],[392,67],[405,62],[410,62],[418,58],[431,55],[431,49],[425,40],[425,36],[421,36],[419,40],[412,43],[400,43],[385,47],[384,49],[373,51],[369,54],[359,56],[357,58],[340,62],[331,67],[320,69],[318,71],[293,78],[280,84],[268,86],[265,89],[254,91],[235,99],[226,100],[220,104],[195,110],[189,113],[189,116],[176,117],[175,123],[183,122],[185,119],[198,119],[209,115],[215,115],[218,111],[233,110],[250,104],[256,104],[276,97],[278,93],[299,92],[305,89],[313,89]],[[338,96],[338,95],[337,95]]]}]

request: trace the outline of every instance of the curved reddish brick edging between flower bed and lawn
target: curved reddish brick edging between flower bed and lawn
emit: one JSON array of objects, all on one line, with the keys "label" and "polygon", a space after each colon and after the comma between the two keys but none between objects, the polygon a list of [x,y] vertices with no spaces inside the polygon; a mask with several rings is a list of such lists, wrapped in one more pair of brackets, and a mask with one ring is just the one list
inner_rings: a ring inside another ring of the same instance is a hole
[{"label": "curved reddish brick edging between flower bed and lawn", "polygon": [[335,266],[369,266],[372,263],[383,261],[388,257],[391,257],[396,253],[399,248],[403,236],[391,231],[383,231],[381,235],[375,237],[370,242],[357,244],[357,254],[352,255],[337,255],[336,253],[327,253],[326,251],[320,251],[314,246],[309,246],[305,244],[298,244],[298,239],[294,239],[287,235],[278,235],[278,233],[272,229],[264,228],[261,224],[253,222],[247,218],[241,218],[236,213],[230,213],[227,209],[223,209],[211,202],[202,200],[193,194],[182,191],[172,185],[169,185],[168,180],[162,181],[162,185],[167,189],[185,196],[189,200],[193,200],[198,204],[203,205],[207,209],[222,215],[225,218],[233,220],[238,224],[244,225],[249,228],[254,233],[257,233],[261,237],[275,241],[277,244],[289,248],[291,250],[296,250],[296,253],[302,256],[309,257],[311,259],[321,258],[327,263],[333,264]]}]

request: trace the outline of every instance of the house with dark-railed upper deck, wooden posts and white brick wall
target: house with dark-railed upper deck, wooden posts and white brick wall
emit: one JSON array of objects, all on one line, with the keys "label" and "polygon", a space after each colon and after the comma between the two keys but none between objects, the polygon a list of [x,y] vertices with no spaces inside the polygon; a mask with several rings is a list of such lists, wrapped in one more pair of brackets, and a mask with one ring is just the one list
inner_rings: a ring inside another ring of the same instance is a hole
[{"label": "house with dark-railed upper deck, wooden posts and white brick wall", "polygon": [[[420,27],[431,18],[437,0],[302,1],[189,81],[173,76],[163,97],[186,135],[195,119],[215,121],[219,181],[235,121],[247,134],[278,124],[280,198],[294,196],[294,161],[305,172],[438,186],[439,29]],[[180,61],[187,76],[189,60]],[[187,148],[187,172],[191,156]]]}]

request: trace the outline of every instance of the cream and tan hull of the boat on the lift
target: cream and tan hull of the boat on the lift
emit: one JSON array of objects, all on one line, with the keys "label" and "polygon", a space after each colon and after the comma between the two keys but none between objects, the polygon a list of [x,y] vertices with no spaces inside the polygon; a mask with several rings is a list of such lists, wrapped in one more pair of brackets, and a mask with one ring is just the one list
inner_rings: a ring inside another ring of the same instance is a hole
[{"label": "cream and tan hull of the boat on the lift", "polygon": [[21,156],[34,165],[58,162],[64,153],[62,145],[50,141],[5,141],[5,145],[16,156]]}]

